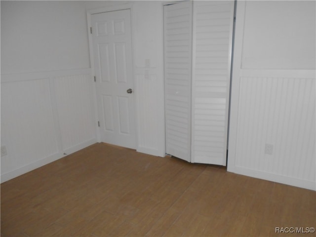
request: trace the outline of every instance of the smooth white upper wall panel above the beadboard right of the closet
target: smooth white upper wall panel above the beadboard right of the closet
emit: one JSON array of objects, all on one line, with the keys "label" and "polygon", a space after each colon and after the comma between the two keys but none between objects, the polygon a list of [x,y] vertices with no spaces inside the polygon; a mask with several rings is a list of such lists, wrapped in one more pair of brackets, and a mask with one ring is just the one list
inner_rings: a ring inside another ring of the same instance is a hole
[{"label": "smooth white upper wall panel above the beadboard right of the closet", "polygon": [[241,67],[315,69],[315,1],[248,1]]}]

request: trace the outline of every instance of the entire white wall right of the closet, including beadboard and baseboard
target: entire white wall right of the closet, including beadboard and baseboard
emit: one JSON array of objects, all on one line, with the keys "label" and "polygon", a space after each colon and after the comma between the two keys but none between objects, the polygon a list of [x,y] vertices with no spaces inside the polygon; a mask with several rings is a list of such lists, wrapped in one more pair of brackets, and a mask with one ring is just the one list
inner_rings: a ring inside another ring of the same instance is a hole
[{"label": "entire white wall right of the closet, including beadboard and baseboard", "polygon": [[316,190],[315,11],[237,2],[229,171]]}]

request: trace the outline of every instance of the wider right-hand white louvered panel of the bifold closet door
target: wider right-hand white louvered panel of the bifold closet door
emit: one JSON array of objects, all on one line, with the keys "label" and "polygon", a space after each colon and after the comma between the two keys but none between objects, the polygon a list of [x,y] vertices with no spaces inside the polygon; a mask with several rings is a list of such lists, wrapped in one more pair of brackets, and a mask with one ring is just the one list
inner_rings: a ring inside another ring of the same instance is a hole
[{"label": "wider right-hand white louvered panel of the bifold closet door", "polygon": [[195,1],[192,162],[226,165],[234,1]]}]

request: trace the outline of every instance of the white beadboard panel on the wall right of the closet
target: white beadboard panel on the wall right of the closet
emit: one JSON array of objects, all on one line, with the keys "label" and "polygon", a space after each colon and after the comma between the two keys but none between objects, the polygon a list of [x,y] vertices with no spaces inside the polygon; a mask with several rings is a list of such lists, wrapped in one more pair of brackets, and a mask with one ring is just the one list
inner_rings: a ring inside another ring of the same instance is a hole
[{"label": "white beadboard panel on the wall right of the closet", "polygon": [[240,78],[236,166],[315,182],[315,106],[315,79]]}]

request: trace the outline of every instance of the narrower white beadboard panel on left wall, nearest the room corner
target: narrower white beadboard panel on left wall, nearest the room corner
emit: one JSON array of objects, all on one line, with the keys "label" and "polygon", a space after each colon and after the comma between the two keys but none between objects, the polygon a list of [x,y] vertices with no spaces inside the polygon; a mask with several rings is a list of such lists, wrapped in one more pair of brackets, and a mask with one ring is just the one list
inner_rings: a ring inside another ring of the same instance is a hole
[{"label": "narrower white beadboard panel on left wall, nearest the room corner", "polygon": [[61,139],[66,153],[95,139],[97,121],[94,117],[92,81],[90,75],[54,79]]}]

